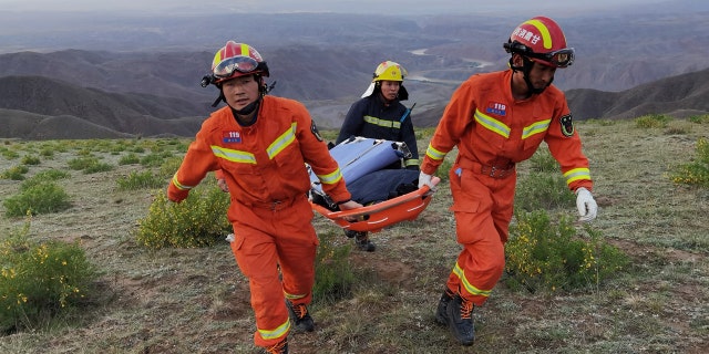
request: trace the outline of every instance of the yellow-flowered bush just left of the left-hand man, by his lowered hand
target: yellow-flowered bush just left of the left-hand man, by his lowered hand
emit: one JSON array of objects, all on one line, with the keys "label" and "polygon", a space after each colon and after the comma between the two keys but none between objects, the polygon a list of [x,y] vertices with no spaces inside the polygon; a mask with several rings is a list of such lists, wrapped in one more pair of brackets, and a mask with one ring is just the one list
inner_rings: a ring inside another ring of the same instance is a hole
[{"label": "yellow-flowered bush just left of the left-hand man, by his lowered hand", "polygon": [[207,247],[232,232],[226,211],[229,195],[214,185],[201,185],[179,204],[158,192],[148,214],[138,220],[136,241],[147,248]]}]

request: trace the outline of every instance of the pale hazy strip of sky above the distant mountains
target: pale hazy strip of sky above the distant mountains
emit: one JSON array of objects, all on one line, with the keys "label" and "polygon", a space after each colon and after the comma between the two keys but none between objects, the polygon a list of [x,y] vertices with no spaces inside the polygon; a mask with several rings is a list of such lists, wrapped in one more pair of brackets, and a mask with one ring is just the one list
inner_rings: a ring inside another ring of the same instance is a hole
[{"label": "pale hazy strip of sky above the distant mountains", "polygon": [[[706,0],[702,0],[706,1]],[[160,12],[345,12],[378,14],[423,13],[572,13],[609,10],[623,6],[650,6],[665,0],[0,0],[0,11],[114,11]],[[502,3],[502,4],[501,4]]]}]

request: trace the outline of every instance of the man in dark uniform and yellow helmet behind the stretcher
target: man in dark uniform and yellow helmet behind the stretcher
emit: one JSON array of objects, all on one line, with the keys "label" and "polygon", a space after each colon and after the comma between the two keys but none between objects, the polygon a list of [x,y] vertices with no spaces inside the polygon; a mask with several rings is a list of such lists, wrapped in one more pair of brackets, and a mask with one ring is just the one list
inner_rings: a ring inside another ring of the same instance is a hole
[{"label": "man in dark uniform and yellow helmet behind the stretcher", "polygon": [[[411,122],[411,110],[401,103],[409,100],[409,93],[403,86],[405,75],[407,70],[397,62],[380,63],[367,91],[347,112],[336,144],[351,136],[403,142],[411,150],[411,157],[403,160],[403,167],[419,170],[419,149]],[[354,244],[359,250],[374,251],[376,246],[369,240],[367,232],[345,230],[345,235],[354,238]]]}]

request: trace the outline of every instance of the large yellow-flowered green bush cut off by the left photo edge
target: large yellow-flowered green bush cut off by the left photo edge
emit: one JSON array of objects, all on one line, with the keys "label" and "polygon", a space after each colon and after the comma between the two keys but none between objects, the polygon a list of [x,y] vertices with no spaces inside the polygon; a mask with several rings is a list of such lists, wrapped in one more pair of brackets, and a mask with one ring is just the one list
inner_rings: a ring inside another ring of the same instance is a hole
[{"label": "large yellow-flowered green bush cut off by the left photo edge", "polygon": [[34,242],[29,221],[0,239],[0,331],[37,329],[90,296],[97,278],[78,242]]}]

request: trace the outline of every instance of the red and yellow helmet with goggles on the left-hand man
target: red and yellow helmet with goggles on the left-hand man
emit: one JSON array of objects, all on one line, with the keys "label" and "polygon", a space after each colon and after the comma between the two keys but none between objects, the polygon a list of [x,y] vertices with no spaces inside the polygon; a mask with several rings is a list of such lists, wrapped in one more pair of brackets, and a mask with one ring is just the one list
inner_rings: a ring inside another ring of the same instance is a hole
[{"label": "red and yellow helmet with goggles on the left-hand man", "polygon": [[212,61],[214,84],[251,74],[268,76],[266,61],[253,46],[228,41],[226,45],[214,54],[214,60]]}]

